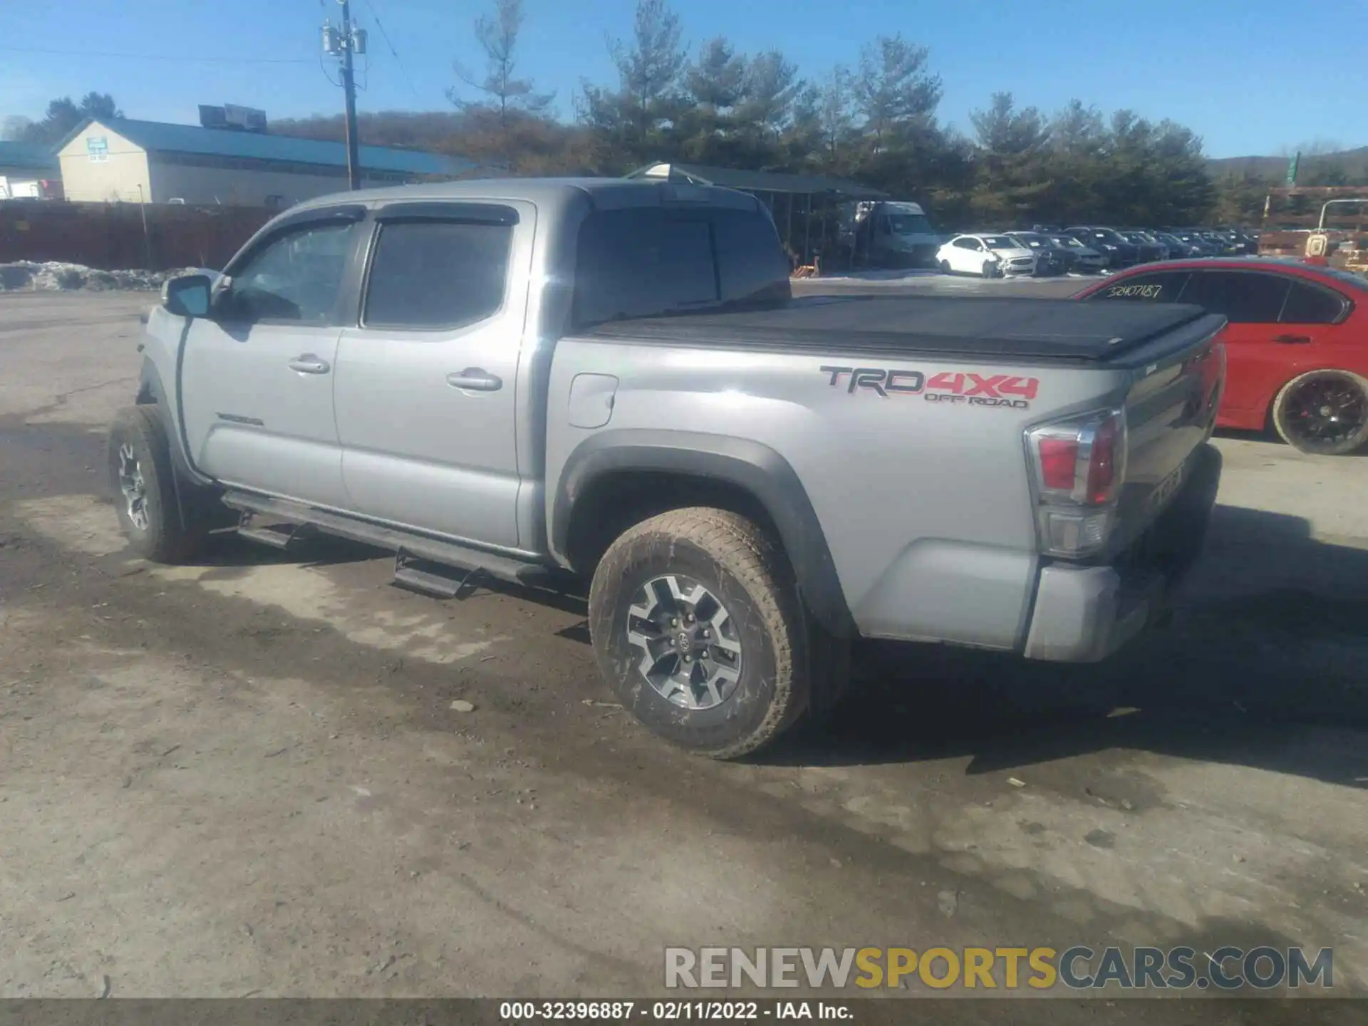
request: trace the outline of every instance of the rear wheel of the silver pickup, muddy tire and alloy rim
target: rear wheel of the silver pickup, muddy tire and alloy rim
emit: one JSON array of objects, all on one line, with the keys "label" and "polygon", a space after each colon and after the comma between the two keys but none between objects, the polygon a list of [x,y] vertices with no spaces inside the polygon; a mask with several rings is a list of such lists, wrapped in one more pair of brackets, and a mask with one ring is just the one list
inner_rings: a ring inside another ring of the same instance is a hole
[{"label": "rear wheel of the silver pickup, muddy tire and alloy rim", "polygon": [[599,670],[662,737],[733,759],[808,710],[811,632],[787,561],[750,520],[677,509],[622,534],[590,588]]}]

